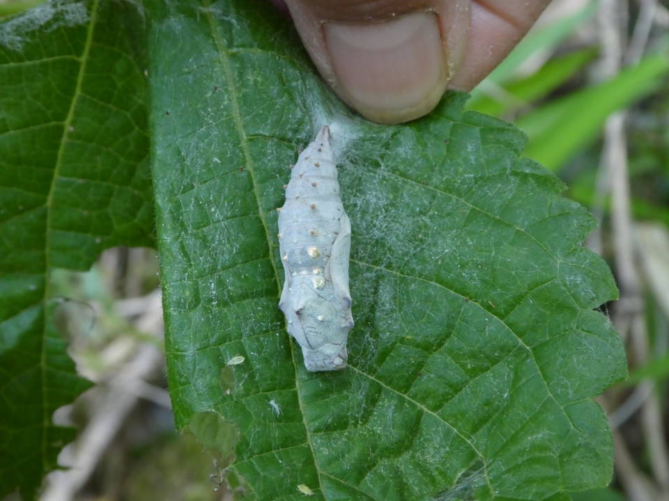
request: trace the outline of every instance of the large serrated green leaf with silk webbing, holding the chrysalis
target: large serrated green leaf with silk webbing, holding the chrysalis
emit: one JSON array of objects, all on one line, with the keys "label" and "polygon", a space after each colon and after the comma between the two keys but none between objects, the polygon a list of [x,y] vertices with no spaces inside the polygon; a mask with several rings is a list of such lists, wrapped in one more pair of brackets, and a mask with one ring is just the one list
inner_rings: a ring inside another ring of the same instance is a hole
[{"label": "large serrated green leaf with silk webbing, holding the chrysalis", "polygon": [[[608,484],[608,424],[590,398],[626,364],[592,308],[617,291],[580,246],[592,216],[519,156],[523,134],[463,113],[454,93],[408,125],[366,122],[261,3],[146,7],[178,427],[202,411],[233,424],[231,468],[258,500],[300,500],[298,485],[330,501],[567,500]],[[275,207],[325,123],[353,225],[356,326],[349,367],[313,374],[277,308]]]}]

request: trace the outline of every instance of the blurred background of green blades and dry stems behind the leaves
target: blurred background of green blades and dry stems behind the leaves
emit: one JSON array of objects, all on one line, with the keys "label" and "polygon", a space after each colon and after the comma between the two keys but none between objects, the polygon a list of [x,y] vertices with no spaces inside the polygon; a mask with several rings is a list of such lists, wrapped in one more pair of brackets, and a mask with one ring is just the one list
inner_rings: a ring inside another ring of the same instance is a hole
[{"label": "blurred background of green blades and dry stems behind the leaves", "polygon": [[[0,16],[36,3],[0,0]],[[574,500],[669,501],[669,0],[553,0],[468,107],[523,129],[526,154],[599,218],[587,245],[620,287],[603,308],[631,377],[599,399],[615,478]],[[54,294],[79,372],[97,384],[54,416],[80,433],[42,500],[233,499],[225,460],[174,432],[154,251],[107,250],[88,273],[56,273]]]}]

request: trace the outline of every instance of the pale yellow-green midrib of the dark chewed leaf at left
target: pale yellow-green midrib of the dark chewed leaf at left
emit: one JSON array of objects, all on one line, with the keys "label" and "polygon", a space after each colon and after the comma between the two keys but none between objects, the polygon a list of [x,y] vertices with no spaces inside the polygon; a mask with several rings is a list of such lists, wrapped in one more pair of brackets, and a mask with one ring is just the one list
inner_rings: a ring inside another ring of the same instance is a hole
[{"label": "pale yellow-green midrib of the dark chewed leaf at left", "polygon": [[75,90],[72,94],[72,101],[70,102],[70,109],[68,109],[68,115],[66,116],[65,121],[63,122],[63,134],[61,135],[61,141],[59,143],[58,153],[56,154],[56,163],[54,164],[54,174],[51,179],[51,185],[49,186],[49,192],[47,193],[47,200],[45,202],[45,207],[47,211],[47,221],[45,225],[45,238],[44,238],[44,296],[43,296],[43,325],[42,325],[42,336],[40,338],[40,375],[41,375],[41,385],[42,385],[42,419],[43,419],[43,431],[42,431],[42,468],[47,470],[47,432],[46,429],[51,425],[51,415],[48,412],[47,406],[47,397],[45,388],[47,387],[46,381],[46,367],[47,367],[47,351],[46,351],[46,338],[47,338],[47,326],[49,322],[47,320],[47,301],[51,296],[51,280],[49,278],[51,273],[51,260],[49,257],[49,249],[51,246],[51,233],[52,233],[52,203],[54,200],[54,192],[56,191],[56,181],[58,180],[61,166],[63,164],[63,151],[65,150],[65,145],[68,141],[68,136],[70,135],[70,126],[75,117],[75,109],[77,107],[77,102],[79,100],[79,95],[82,94],[82,82],[84,81],[84,74],[86,73],[86,63],[89,60],[89,54],[91,52],[91,45],[93,45],[93,29],[95,27],[95,22],[98,18],[98,3],[99,0],[93,0],[93,5],[91,7],[91,18],[89,19],[89,26],[86,30],[86,41],[84,42],[84,49],[82,50],[82,55],[77,58],[80,62],[79,64],[79,73],[77,74],[77,83],[75,84]]}]

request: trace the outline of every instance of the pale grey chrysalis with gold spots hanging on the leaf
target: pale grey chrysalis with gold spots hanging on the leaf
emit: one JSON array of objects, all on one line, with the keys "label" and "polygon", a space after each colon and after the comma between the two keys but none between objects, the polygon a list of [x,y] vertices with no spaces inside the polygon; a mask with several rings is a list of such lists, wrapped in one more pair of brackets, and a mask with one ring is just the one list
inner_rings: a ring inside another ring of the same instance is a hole
[{"label": "pale grey chrysalis with gold spots hanging on the leaf", "polygon": [[348,291],[351,222],[339,197],[337,166],[325,126],[300,154],[279,210],[286,281],[279,301],[289,334],[312,372],[344,369],[353,328]]}]

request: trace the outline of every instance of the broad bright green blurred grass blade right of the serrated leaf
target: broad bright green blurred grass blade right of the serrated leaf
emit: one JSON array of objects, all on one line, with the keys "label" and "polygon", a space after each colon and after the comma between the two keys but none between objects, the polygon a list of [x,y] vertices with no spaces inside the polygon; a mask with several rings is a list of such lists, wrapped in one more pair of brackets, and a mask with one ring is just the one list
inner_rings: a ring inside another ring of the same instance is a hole
[{"label": "broad bright green blurred grass blade right of the serrated leaf", "polygon": [[517,123],[530,138],[525,154],[551,170],[560,168],[600,134],[611,113],[652,92],[668,72],[669,56],[650,54],[608,81],[528,113]]}]

